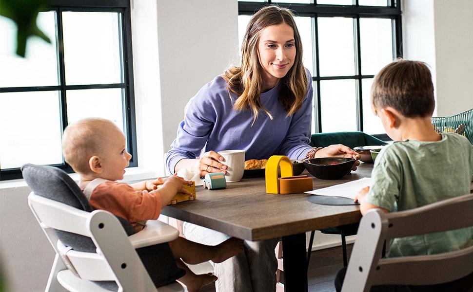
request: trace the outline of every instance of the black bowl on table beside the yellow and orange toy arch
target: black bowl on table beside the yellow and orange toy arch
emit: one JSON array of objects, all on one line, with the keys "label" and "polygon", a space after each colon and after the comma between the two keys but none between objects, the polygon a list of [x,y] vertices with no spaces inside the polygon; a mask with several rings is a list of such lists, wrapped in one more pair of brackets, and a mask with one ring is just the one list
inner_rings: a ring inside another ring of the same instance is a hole
[{"label": "black bowl on table beside the yellow and orange toy arch", "polygon": [[305,168],[317,179],[336,180],[350,173],[355,159],[345,157],[322,157],[304,160]]}]

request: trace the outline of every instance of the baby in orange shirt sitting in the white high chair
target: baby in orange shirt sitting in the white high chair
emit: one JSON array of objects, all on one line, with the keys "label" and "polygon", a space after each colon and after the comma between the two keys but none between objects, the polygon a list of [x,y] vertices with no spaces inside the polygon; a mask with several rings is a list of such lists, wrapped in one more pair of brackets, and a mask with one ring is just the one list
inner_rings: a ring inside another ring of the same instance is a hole
[{"label": "baby in orange shirt sitting in the white high chair", "polygon": [[[109,120],[88,118],[69,125],[62,136],[64,159],[79,174],[79,187],[94,209],[110,211],[128,220],[135,230],[144,228],[146,220],[158,219],[177,192],[189,194],[184,181],[177,176],[135,184],[118,183],[122,180],[131,155],[125,149],[123,133]],[[157,190],[157,185],[162,186]],[[216,263],[237,255],[243,241],[230,238],[216,246],[198,244],[178,237],[169,242],[177,266],[186,270],[179,281],[189,292],[197,292],[204,285],[217,280],[210,274],[196,275],[182,262],[197,264],[212,260]],[[182,261],[181,261],[182,259]]]}]

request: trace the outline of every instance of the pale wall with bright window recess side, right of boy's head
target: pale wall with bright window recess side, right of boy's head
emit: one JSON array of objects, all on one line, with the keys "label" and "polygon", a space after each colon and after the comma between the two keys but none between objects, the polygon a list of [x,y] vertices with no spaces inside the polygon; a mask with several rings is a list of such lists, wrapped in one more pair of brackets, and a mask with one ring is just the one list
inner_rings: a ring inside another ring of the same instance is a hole
[{"label": "pale wall with bright window recess side, right of boy's head", "polygon": [[473,1],[404,0],[404,58],[431,66],[434,115],[473,108]]}]

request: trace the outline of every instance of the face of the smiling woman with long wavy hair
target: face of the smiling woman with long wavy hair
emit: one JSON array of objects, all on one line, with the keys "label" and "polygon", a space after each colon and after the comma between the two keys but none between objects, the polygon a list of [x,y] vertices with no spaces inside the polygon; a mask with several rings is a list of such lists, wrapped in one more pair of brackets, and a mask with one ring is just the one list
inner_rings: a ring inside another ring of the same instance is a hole
[{"label": "face of the smiling woman with long wavy hair", "polygon": [[271,25],[261,31],[258,41],[259,63],[263,67],[263,82],[276,85],[294,65],[296,44],[294,30],[286,23]]}]

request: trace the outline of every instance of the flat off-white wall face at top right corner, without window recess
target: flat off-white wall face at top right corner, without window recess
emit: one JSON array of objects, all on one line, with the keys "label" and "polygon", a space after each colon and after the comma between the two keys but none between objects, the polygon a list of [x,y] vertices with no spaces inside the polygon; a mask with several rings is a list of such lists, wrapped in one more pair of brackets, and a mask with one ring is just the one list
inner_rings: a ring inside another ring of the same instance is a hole
[{"label": "flat off-white wall face at top right corner, without window recess", "polygon": [[473,109],[473,1],[435,0],[437,114]]}]

